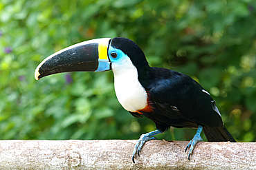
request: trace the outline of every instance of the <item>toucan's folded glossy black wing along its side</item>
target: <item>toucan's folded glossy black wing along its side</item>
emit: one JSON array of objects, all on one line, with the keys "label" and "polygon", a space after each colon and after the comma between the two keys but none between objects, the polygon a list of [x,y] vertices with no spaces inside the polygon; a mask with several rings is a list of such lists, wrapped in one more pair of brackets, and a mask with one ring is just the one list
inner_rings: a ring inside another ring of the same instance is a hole
[{"label": "toucan's folded glossy black wing along its side", "polygon": [[223,125],[210,94],[190,76],[170,72],[170,78],[159,78],[150,89],[152,101],[161,113],[168,118],[182,118],[197,125]]}]

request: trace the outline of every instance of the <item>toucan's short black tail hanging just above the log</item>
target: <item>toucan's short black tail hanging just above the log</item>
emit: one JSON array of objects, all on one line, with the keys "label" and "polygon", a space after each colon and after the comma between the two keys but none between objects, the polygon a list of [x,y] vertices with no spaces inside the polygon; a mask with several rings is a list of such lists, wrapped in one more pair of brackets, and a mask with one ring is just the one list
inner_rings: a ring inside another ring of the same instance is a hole
[{"label": "toucan's short black tail hanging just above the log", "polygon": [[203,132],[209,142],[236,142],[226,127],[203,127]]}]

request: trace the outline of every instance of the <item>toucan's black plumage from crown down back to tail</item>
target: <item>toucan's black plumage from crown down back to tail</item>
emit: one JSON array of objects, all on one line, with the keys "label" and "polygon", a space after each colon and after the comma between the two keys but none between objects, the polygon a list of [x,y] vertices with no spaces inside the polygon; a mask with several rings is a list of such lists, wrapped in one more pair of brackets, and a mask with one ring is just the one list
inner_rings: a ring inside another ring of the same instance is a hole
[{"label": "toucan's black plumage from crown down back to tail", "polygon": [[235,142],[224,127],[214,100],[194,79],[173,70],[149,67],[144,52],[129,39],[115,38],[111,46],[129,56],[148,94],[151,110],[130,111],[133,116],[143,115],[153,120],[162,132],[170,126],[197,128],[201,125],[208,141]]}]

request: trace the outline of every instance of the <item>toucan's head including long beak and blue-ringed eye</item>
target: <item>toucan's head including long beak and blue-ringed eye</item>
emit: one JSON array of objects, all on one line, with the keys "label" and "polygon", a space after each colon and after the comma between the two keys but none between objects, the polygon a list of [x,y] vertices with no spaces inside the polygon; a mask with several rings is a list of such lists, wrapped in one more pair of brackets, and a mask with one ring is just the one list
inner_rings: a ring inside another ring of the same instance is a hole
[{"label": "toucan's head including long beak and blue-ringed eye", "polygon": [[48,56],[37,66],[35,79],[61,72],[113,70],[118,74],[129,72],[134,67],[137,70],[149,67],[143,51],[136,43],[120,37],[93,39],[71,45]]}]

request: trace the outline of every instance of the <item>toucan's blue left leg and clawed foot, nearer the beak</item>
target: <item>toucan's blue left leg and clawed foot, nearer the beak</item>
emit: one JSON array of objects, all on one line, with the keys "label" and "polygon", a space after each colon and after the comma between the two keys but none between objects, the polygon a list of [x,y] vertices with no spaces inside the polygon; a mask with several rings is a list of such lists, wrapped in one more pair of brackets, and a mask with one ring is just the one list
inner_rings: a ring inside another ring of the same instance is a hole
[{"label": "toucan's blue left leg and clawed foot, nearer the beak", "polygon": [[140,156],[141,148],[143,147],[145,142],[152,140],[152,139],[156,139],[156,137],[152,137],[152,136],[155,136],[157,134],[162,134],[162,133],[163,133],[163,131],[155,130],[155,131],[151,131],[147,134],[142,134],[134,147],[134,151],[132,152],[132,158],[131,158],[132,162],[134,162],[134,156],[135,156],[136,152],[138,153],[138,156]]}]

